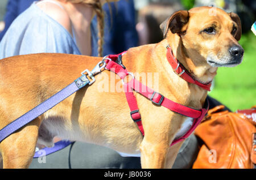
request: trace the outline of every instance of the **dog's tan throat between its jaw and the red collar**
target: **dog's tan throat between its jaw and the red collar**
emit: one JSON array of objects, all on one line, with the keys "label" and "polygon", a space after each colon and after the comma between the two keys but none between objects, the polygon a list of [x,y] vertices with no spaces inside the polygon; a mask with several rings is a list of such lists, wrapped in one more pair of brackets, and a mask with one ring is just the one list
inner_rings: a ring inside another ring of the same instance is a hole
[{"label": "dog's tan throat between its jaw and the red collar", "polygon": [[[174,56],[180,63],[191,73],[193,78],[200,83],[207,84],[212,82],[216,75],[217,67],[210,67],[206,64],[206,60],[201,55],[193,50],[187,50],[179,35],[170,33],[168,40],[171,42],[170,46]],[[204,64],[202,64],[204,62]],[[202,66],[203,65],[203,66]]]}]

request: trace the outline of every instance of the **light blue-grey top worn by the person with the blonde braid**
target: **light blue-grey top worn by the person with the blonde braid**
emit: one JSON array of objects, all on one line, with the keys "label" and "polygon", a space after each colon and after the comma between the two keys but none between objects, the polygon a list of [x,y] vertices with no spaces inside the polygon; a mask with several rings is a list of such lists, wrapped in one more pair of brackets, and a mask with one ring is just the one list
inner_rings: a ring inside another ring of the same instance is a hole
[{"label": "light blue-grey top worn by the person with the blonde braid", "polygon": [[[97,56],[97,29],[92,30],[92,56]],[[32,53],[81,54],[71,34],[32,3],[20,14],[0,42],[0,59]]]}]

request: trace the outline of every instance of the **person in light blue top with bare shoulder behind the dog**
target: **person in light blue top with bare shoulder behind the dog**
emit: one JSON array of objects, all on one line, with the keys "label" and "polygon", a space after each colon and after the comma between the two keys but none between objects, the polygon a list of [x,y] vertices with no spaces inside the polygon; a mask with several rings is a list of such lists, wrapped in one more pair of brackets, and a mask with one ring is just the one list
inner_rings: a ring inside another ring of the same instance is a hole
[{"label": "person in light blue top with bare shoulder behind the dog", "polygon": [[[32,3],[14,20],[3,36],[0,57],[42,52],[92,55],[94,50],[91,49],[90,19],[97,12],[97,17],[100,17],[98,26],[101,26],[101,3],[96,1],[88,6],[72,2],[46,0]],[[99,31],[100,48],[102,36]],[[101,49],[98,51],[101,53]]]}]

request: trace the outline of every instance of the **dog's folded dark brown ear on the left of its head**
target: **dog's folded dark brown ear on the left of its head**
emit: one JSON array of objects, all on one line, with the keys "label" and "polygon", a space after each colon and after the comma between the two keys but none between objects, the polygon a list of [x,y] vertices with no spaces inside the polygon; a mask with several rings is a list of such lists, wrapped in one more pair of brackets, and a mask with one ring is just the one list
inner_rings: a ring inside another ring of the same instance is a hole
[{"label": "dog's folded dark brown ear on the left of its head", "polygon": [[166,37],[168,29],[170,29],[172,33],[182,33],[182,28],[187,24],[188,19],[189,14],[186,10],[177,11],[172,14],[170,18],[167,18],[162,24],[160,24],[163,36]]}]

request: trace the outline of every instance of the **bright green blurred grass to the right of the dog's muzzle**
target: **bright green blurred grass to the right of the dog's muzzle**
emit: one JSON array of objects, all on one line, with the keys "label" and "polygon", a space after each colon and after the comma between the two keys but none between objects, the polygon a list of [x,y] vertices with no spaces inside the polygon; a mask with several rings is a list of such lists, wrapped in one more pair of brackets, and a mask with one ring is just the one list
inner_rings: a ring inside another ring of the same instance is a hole
[{"label": "bright green blurred grass to the right of the dog's muzzle", "polygon": [[243,62],[218,68],[214,88],[209,92],[232,111],[256,105],[256,36],[249,32],[239,42],[245,50]]}]

